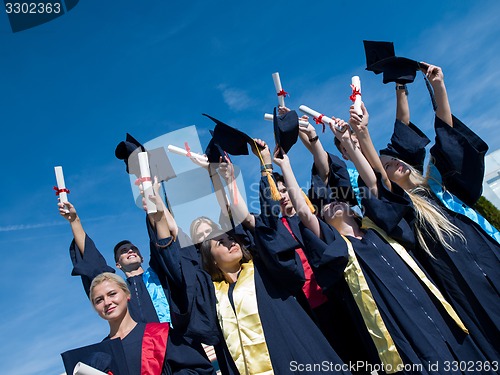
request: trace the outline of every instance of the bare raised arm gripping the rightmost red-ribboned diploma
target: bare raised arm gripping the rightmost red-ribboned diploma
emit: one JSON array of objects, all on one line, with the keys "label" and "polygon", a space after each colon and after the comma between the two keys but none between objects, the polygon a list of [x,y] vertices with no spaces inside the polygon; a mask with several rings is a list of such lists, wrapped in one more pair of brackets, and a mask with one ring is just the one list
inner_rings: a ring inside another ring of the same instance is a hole
[{"label": "bare raised arm gripping the rightmost red-ribboned diploma", "polygon": [[[375,172],[380,173],[382,183],[390,190],[392,186],[391,181],[389,180],[389,177],[387,177],[387,173],[385,172],[384,166],[380,161],[377,150],[375,150],[375,146],[373,145],[372,139],[370,137],[370,132],[368,131],[368,122],[370,115],[368,114],[368,110],[366,109],[363,102],[361,103],[361,110],[363,111],[363,116],[359,116],[354,110],[354,106],[351,106],[351,108],[349,109],[349,125],[351,125],[352,130],[354,130],[354,133],[356,134],[359,145],[361,147],[361,152],[364,156],[363,159],[368,161],[369,165]],[[358,155],[358,157],[360,156]],[[363,169],[364,172],[367,172],[362,165],[360,165],[360,168]],[[359,169],[358,172],[361,174],[361,171]],[[365,173],[365,177],[362,176],[362,178],[370,188],[370,190],[372,190],[373,188],[376,189],[376,183],[375,186],[369,185],[372,179],[370,176],[366,175]],[[375,191],[373,192],[375,193]]]}]

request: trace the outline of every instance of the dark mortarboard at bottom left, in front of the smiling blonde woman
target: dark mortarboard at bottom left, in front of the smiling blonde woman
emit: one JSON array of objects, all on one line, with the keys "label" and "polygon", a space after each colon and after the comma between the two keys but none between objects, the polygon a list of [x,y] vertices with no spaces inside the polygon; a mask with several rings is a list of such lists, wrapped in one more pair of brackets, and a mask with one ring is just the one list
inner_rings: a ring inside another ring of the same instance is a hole
[{"label": "dark mortarboard at bottom left, in front of the smiling blonde woman", "polygon": [[67,374],[72,374],[78,362],[104,373],[129,375],[125,352],[120,339],[105,340],[61,353]]}]

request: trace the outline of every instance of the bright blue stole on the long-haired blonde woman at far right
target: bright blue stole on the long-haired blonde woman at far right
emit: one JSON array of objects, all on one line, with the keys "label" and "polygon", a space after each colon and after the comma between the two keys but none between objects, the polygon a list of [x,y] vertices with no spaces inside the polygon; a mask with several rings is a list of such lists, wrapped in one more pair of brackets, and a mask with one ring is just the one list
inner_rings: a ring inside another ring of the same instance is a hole
[{"label": "bright blue stole on the long-haired blonde woman at far right", "polygon": [[439,173],[434,163],[429,163],[429,178],[427,183],[429,184],[432,192],[439,198],[446,208],[453,212],[467,216],[483,228],[483,230],[495,241],[500,243],[500,232],[493,225],[491,225],[488,220],[443,187],[441,173]]}]

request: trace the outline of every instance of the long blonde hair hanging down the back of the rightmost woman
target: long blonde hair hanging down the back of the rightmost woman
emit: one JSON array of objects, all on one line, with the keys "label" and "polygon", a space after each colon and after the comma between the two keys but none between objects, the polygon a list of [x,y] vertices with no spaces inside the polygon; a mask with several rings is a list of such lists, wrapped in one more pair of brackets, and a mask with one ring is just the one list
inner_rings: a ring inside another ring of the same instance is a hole
[{"label": "long blonde hair hanging down the back of the rightmost woman", "polygon": [[415,231],[419,245],[427,254],[434,258],[429,246],[425,242],[425,235],[427,235],[432,240],[443,245],[445,249],[455,251],[450,244],[450,240],[453,237],[458,237],[460,241],[466,242],[464,234],[456,225],[448,220],[439,206],[431,203],[427,198],[431,194],[427,182],[428,177],[424,177],[412,166],[406,165],[410,169],[410,181],[416,186],[413,189],[406,190],[406,192],[415,208],[417,217]]}]

